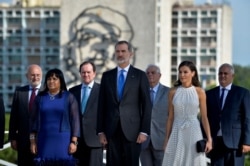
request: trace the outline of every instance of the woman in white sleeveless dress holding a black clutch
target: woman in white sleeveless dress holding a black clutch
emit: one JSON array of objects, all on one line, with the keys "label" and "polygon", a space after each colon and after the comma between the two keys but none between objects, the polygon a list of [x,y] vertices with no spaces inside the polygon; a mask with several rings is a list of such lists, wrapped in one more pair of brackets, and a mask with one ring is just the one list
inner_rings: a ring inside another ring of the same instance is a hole
[{"label": "woman in white sleeveless dress holding a black clutch", "polygon": [[[169,92],[169,112],[162,166],[206,166],[206,154],[212,149],[207,119],[206,94],[200,87],[198,72],[190,61],[179,67],[179,79]],[[203,139],[198,114],[205,130],[205,152],[196,151],[196,142]]]}]

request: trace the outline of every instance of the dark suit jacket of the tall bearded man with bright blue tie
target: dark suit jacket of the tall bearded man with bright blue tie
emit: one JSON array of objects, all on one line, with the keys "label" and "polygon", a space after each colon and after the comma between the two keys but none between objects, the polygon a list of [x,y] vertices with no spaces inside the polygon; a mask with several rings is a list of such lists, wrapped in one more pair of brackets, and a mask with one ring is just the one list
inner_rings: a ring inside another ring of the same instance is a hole
[{"label": "dark suit jacket of the tall bearded man with bright blue tie", "polygon": [[104,132],[109,139],[118,122],[125,137],[136,141],[140,132],[150,134],[152,104],[145,72],[130,66],[122,100],[117,94],[117,68],[104,72],[101,79],[97,133]]}]

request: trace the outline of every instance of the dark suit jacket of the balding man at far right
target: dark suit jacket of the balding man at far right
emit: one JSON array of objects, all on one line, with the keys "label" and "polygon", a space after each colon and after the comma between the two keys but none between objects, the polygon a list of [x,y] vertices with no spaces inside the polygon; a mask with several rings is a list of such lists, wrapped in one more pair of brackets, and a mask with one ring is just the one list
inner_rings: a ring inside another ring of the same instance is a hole
[{"label": "dark suit jacket of the balding man at far right", "polygon": [[220,112],[219,86],[208,90],[207,115],[213,140],[221,128],[222,137],[228,148],[239,148],[242,144],[250,145],[250,94],[249,90],[232,85]]}]

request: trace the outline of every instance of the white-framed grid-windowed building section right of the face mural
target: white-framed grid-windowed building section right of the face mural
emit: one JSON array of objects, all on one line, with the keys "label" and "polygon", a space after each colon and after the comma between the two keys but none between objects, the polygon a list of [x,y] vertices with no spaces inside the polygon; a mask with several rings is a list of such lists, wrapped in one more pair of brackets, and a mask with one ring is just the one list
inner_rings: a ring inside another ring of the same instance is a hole
[{"label": "white-framed grid-windowed building section right of the face mural", "polygon": [[175,4],[171,36],[172,82],[183,60],[197,65],[203,88],[217,84],[222,63],[232,63],[232,10],[227,5]]}]

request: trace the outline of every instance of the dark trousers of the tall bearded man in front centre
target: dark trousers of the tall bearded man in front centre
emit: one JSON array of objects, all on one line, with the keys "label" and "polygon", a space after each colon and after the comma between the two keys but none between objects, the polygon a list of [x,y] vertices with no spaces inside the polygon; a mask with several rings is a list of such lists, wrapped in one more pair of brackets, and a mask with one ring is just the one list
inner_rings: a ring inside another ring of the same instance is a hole
[{"label": "dark trousers of the tall bearded man in front centre", "polygon": [[[119,123],[120,124],[120,123]],[[108,140],[107,166],[139,166],[141,145],[128,141],[120,125]]]}]

